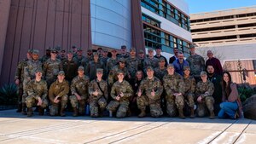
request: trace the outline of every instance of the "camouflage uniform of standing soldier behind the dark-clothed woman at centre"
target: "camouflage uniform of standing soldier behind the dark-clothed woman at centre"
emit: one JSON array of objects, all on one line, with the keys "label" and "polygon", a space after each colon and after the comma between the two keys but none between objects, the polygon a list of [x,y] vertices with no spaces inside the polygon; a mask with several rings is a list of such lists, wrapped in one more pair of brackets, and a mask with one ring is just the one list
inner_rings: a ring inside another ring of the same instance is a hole
[{"label": "camouflage uniform of standing soldier behind the dark-clothed woman at centre", "polygon": [[142,69],[141,60],[139,60],[138,58],[129,57],[126,59],[126,67],[128,69],[128,72],[131,74],[131,78],[134,79],[136,72]]}]

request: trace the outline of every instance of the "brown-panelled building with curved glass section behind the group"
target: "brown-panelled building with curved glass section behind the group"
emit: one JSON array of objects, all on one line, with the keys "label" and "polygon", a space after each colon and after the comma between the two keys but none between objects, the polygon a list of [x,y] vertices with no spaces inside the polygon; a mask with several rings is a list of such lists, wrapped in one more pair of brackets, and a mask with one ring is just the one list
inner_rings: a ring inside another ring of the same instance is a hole
[{"label": "brown-panelled building with curved glass section behind the group", "polygon": [[13,83],[27,49],[160,46],[169,58],[192,43],[183,0],[0,0],[0,12],[0,85]]}]

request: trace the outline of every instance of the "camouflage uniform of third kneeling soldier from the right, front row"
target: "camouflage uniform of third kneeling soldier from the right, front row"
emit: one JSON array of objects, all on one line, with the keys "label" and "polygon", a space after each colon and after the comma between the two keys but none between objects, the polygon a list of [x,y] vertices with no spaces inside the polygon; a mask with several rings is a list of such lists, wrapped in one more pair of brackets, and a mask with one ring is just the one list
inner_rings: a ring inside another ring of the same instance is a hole
[{"label": "camouflage uniform of third kneeling soldier from the right, front row", "polygon": [[[173,75],[167,74],[163,78],[164,88],[166,90],[166,112],[170,117],[176,116],[176,107],[179,114],[183,114],[184,107],[184,82],[183,78],[176,72]],[[175,96],[174,93],[182,95]],[[182,113],[181,113],[182,112]]]}]

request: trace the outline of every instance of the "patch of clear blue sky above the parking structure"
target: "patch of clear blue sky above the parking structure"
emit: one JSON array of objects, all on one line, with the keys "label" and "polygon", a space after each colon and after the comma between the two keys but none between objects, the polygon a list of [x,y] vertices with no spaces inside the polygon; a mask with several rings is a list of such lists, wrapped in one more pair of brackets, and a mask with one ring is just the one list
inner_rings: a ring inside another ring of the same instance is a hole
[{"label": "patch of clear blue sky above the parking structure", "polygon": [[256,6],[256,0],[185,0],[185,2],[189,4],[190,14]]}]

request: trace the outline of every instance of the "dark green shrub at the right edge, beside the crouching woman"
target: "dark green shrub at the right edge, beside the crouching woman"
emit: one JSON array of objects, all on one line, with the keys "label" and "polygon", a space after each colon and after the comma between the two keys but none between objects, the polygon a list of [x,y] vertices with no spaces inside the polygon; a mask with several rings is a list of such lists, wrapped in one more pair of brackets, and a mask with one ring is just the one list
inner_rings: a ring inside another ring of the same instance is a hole
[{"label": "dark green shrub at the right edge, beside the crouching woman", "polygon": [[241,102],[246,101],[247,98],[256,94],[256,91],[252,89],[249,84],[241,84],[237,88]]}]

